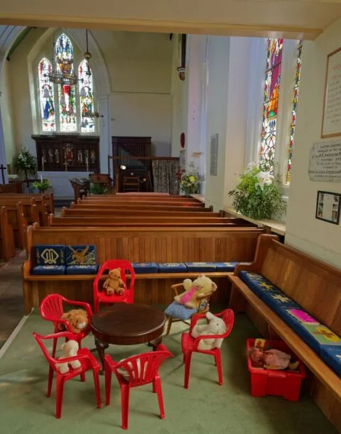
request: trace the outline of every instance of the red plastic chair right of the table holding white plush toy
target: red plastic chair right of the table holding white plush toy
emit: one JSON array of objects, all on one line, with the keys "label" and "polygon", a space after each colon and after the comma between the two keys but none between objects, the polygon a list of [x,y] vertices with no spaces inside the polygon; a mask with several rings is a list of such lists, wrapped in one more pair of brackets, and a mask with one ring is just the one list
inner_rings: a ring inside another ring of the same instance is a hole
[{"label": "red plastic chair right of the table holding white plush toy", "polygon": [[191,332],[197,321],[200,320],[200,318],[206,318],[205,313],[198,313],[193,317],[190,323],[190,331],[183,333],[181,337],[181,345],[183,347],[183,363],[185,364],[185,383],[183,385],[185,389],[188,389],[188,382],[190,380],[190,360],[192,358],[193,352],[201,352],[204,354],[211,354],[212,356],[215,356],[215,364],[217,365],[219,385],[222,386],[222,358],[220,354],[220,348],[214,348],[210,350],[197,349],[197,346],[202,339],[209,339],[210,337],[212,337],[212,339],[218,339],[220,337],[227,337],[231,333],[234,323],[233,310],[225,309],[221,313],[215,314],[215,316],[224,320],[224,323],[226,325],[226,332],[224,332],[223,335],[202,335],[197,338],[192,337]]}]

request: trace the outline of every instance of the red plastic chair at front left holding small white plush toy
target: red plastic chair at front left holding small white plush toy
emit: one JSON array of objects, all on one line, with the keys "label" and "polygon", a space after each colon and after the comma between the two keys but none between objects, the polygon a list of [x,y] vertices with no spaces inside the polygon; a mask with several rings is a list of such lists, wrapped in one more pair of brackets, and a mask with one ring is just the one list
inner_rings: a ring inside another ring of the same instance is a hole
[{"label": "red plastic chair at front left holding small white plush toy", "polygon": [[85,372],[90,371],[92,369],[92,373],[94,375],[94,389],[96,391],[96,399],[97,399],[97,408],[102,406],[101,403],[101,392],[99,390],[99,362],[95,359],[94,355],[91,354],[90,350],[87,348],[82,348],[78,350],[77,356],[67,357],[63,359],[63,362],[72,362],[73,360],[79,360],[81,366],[79,368],[72,368],[69,365],[69,371],[65,372],[65,374],[60,374],[58,371],[56,364],[58,364],[58,359],[55,359],[50,356],[48,350],[43,344],[43,340],[56,340],[58,337],[65,337],[65,340],[71,340],[74,337],[74,334],[69,332],[61,332],[48,336],[41,336],[38,333],[33,332],[33,336],[38,342],[39,347],[42,349],[44,356],[46,357],[48,364],[50,364],[50,370],[48,371],[48,393],[47,396],[50,398],[51,389],[53,383],[53,372],[57,374],[57,389],[56,389],[56,401],[55,401],[55,417],[60,418],[62,413],[62,403],[63,403],[63,391],[64,384],[67,380],[72,379],[73,377],[80,375],[81,381],[85,381]]}]

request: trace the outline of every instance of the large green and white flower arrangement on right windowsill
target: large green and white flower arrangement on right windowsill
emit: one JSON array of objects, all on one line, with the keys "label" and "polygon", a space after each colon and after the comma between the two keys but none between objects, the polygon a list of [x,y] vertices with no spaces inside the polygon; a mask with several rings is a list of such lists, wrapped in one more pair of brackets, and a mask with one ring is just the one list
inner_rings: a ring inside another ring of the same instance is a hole
[{"label": "large green and white flower arrangement on right windowsill", "polygon": [[284,210],[281,200],[281,183],[261,167],[261,163],[250,163],[247,170],[239,176],[234,190],[233,206],[237,212],[253,219],[271,219]]}]

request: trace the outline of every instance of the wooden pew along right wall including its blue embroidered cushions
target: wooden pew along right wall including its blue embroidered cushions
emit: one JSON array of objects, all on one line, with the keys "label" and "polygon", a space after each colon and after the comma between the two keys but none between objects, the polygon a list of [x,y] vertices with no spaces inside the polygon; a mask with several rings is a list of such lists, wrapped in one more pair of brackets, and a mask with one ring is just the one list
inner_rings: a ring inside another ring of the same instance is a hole
[{"label": "wooden pew along right wall including its blue embroidered cushions", "polygon": [[341,271],[276,239],[262,234],[254,262],[237,265],[229,276],[229,307],[247,311],[264,335],[278,335],[291,347],[313,373],[313,396],[330,416],[330,408],[341,409],[340,370],[330,368],[335,362],[328,356],[341,350]]}]

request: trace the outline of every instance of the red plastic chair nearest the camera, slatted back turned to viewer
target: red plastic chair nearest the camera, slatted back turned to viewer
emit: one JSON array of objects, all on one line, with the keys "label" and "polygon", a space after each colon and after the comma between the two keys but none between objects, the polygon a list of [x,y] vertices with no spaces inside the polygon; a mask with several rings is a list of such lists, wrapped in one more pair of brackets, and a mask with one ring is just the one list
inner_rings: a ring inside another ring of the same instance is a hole
[{"label": "red plastic chair nearest the camera, slatted back turned to viewer", "polygon": [[[173,354],[169,352],[163,344],[159,344],[156,351],[131,356],[124,359],[122,362],[114,362],[109,355],[104,357],[105,404],[109,406],[110,403],[112,372],[114,372],[119,381],[119,386],[121,387],[121,414],[122,428],[124,430],[128,428],[129,391],[131,387],[153,383],[153,392],[158,394],[158,406],[160,407],[161,419],[165,418],[161,379],[158,374],[158,368],[167,357],[173,357]],[[119,372],[121,369],[126,371],[126,375],[129,375],[129,379],[126,379]]]}]

